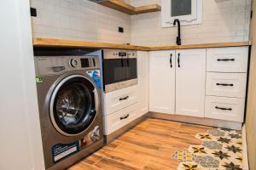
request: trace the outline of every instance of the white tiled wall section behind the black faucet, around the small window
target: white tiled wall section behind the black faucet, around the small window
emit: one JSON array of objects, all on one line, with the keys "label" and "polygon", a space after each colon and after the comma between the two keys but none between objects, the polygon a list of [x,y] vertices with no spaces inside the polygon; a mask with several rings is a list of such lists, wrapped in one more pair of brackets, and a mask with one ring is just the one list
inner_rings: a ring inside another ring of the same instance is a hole
[{"label": "white tiled wall section behind the black faucet, around the small window", "polygon": [[[160,0],[130,0],[137,6]],[[247,41],[251,0],[203,0],[203,23],[182,26],[183,44]],[[177,27],[161,28],[161,14],[131,16],[131,43],[174,45]]]}]

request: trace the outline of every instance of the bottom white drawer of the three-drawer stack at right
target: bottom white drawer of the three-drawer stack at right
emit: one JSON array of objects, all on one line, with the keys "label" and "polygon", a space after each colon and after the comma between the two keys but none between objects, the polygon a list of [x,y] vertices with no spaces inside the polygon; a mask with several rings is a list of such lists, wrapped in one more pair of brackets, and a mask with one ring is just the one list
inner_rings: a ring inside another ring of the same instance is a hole
[{"label": "bottom white drawer of the three-drawer stack at right", "polygon": [[243,122],[245,99],[207,96],[205,117]]}]

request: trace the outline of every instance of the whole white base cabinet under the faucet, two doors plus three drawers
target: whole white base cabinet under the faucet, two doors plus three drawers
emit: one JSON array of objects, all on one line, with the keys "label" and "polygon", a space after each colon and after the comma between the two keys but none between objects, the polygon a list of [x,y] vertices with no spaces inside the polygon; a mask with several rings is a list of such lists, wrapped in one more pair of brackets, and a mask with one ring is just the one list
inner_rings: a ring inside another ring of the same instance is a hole
[{"label": "whole white base cabinet under the faucet, two doors plus three drawers", "polygon": [[149,53],[149,111],[243,122],[248,47]]}]

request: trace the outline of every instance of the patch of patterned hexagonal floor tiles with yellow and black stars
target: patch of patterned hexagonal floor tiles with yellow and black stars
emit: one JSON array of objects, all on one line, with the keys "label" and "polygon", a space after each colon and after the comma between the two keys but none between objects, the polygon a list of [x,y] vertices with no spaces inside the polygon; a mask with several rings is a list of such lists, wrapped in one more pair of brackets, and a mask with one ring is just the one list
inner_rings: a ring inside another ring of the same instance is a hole
[{"label": "patch of patterned hexagonal floor tiles with yellow and black stars", "polygon": [[181,161],[178,170],[241,170],[241,131],[212,128],[197,133],[201,145],[190,145],[188,150],[175,151],[173,157]]}]

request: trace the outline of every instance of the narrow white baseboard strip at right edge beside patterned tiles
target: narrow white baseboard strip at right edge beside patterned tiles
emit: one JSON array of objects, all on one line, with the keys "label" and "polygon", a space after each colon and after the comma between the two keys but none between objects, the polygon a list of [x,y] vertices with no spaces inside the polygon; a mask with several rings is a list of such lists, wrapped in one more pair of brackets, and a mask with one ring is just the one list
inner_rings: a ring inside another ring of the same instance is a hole
[{"label": "narrow white baseboard strip at right edge beside patterned tiles", "polygon": [[247,132],[245,124],[241,128],[242,135],[242,169],[249,170],[248,152],[247,152]]}]

